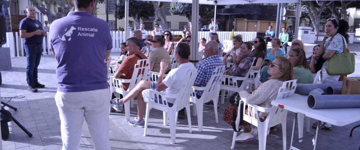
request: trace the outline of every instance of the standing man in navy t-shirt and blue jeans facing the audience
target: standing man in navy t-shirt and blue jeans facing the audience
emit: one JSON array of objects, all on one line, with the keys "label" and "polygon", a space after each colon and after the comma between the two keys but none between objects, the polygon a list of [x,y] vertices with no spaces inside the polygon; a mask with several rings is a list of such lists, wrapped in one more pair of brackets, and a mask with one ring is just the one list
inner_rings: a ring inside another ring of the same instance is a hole
[{"label": "standing man in navy t-shirt and blue jeans facing the audience", "polygon": [[19,29],[20,37],[23,38],[24,41],[27,59],[27,90],[30,92],[37,92],[37,88],[45,87],[45,85],[42,85],[37,81],[37,67],[40,64],[42,38],[46,36],[46,31],[42,31],[42,23],[35,19],[36,10],[33,6],[27,6],[25,13],[27,17],[20,21]]}]

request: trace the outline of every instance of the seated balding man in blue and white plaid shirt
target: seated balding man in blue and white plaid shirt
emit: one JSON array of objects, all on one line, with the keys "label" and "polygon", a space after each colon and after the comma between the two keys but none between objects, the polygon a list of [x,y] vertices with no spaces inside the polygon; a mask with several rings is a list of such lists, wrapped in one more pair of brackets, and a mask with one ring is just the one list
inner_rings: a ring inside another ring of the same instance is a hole
[{"label": "seated balding man in blue and white plaid shirt", "polygon": [[[225,65],[222,60],[218,57],[219,53],[219,44],[216,41],[209,41],[205,45],[204,56],[206,59],[203,59],[197,65],[198,76],[195,79],[194,86],[204,87],[209,82],[212,72],[216,67]],[[201,97],[203,91],[195,91],[197,97]],[[213,101],[205,103],[206,106],[213,105]],[[219,105],[218,105],[219,106]],[[179,117],[185,117],[185,108],[181,109],[178,114]]]}]

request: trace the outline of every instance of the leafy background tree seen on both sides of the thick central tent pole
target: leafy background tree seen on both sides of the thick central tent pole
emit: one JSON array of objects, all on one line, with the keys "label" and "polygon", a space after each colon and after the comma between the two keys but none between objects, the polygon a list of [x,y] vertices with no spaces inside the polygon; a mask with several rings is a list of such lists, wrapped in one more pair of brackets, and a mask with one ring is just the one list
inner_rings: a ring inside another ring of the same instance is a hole
[{"label": "leafy background tree seen on both sides of the thick central tent pole", "polygon": [[[191,15],[192,15],[192,4],[189,3],[171,3],[170,13],[174,15],[185,15],[192,27]],[[214,8],[212,5],[199,5],[199,14],[202,18],[211,18],[214,14]]]}]

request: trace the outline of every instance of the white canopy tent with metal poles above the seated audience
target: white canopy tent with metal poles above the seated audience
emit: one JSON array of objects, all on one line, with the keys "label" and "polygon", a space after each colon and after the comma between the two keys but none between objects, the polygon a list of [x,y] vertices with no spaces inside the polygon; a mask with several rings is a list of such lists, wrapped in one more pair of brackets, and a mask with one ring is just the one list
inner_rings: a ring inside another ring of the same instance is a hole
[{"label": "white canopy tent with metal poles above the seated audience", "polygon": [[[299,28],[300,24],[300,6],[301,1],[310,1],[310,0],[149,0],[149,1],[165,1],[165,2],[177,2],[177,3],[192,3],[192,22],[195,24],[199,21],[199,4],[208,4],[215,5],[215,13],[214,18],[216,22],[216,5],[234,5],[234,4],[261,4],[261,3],[297,3],[297,13],[296,13],[296,22],[295,29]],[[328,0],[327,0],[328,1]],[[279,10],[278,10],[279,11]],[[125,24],[129,20],[129,0],[125,0]],[[280,18],[280,16],[277,16]],[[279,19],[276,19],[277,21]],[[278,24],[278,23],[276,23]],[[198,31],[198,26],[192,26],[192,31]],[[125,28],[125,33],[128,33],[128,28]],[[128,34],[125,34],[125,39],[128,38]],[[198,32],[192,33],[191,39],[191,60],[199,60],[201,58],[197,58],[197,50],[198,50]],[[298,37],[298,32],[295,32],[295,38]]]}]

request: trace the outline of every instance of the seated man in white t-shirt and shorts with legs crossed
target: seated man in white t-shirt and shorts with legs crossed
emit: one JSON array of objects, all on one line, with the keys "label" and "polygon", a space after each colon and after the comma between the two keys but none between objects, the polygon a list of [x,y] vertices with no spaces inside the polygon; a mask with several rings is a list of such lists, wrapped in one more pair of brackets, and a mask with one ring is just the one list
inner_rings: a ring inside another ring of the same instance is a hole
[{"label": "seated man in white t-shirt and shorts with legs crossed", "polygon": [[[143,119],[146,103],[149,100],[149,91],[156,90],[162,91],[167,94],[177,94],[180,91],[181,85],[183,85],[186,75],[189,71],[196,69],[192,63],[189,63],[190,47],[185,43],[180,43],[176,47],[175,58],[179,63],[179,67],[171,69],[164,79],[165,69],[168,67],[168,62],[163,59],[160,63],[160,72],[157,82],[150,82],[142,80],[128,95],[118,100],[119,104],[124,104],[126,101],[138,96],[138,117],[129,121],[131,126],[144,127],[145,121]],[[153,100],[151,100],[153,101]],[[155,101],[157,101],[155,99]],[[168,105],[174,104],[174,99],[167,100]]]}]

